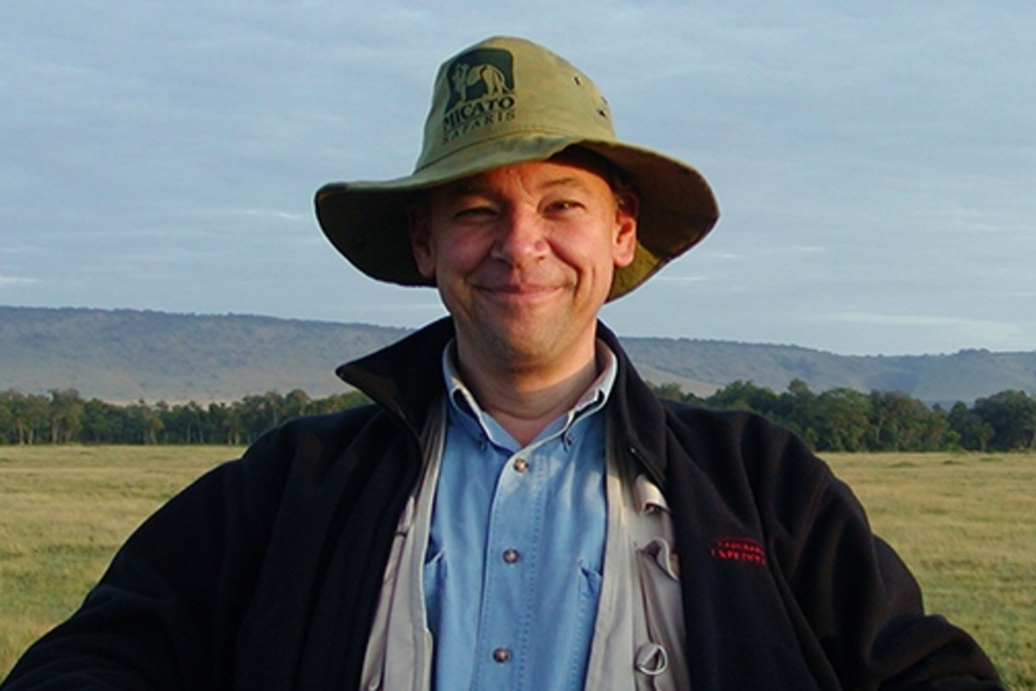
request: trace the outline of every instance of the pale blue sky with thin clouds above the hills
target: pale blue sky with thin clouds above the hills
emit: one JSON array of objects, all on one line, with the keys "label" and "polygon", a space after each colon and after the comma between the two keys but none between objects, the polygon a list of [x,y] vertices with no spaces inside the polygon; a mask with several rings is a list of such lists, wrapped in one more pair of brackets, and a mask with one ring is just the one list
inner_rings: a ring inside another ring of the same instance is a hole
[{"label": "pale blue sky with thin clouds above the hills", "polygon": [[411,172],[440,62],[495,34],[588,74],[712,184],[621,336],[1036,350],[1036,4],[3,0],[0,304],[420,326],[313,194]]}]

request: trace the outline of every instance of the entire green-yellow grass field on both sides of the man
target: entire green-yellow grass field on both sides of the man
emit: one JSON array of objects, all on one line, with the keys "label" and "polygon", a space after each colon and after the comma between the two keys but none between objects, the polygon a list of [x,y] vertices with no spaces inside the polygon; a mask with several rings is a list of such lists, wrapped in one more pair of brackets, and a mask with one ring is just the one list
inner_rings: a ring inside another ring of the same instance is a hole
[{"label": "entire green-yellow grass field on both sides of the man", "polygon": [[[141,520],[228,447],[0,447],[0,678],[67,616]],[[1036,455],[826,455],[930,611],[1036,691]]]}]

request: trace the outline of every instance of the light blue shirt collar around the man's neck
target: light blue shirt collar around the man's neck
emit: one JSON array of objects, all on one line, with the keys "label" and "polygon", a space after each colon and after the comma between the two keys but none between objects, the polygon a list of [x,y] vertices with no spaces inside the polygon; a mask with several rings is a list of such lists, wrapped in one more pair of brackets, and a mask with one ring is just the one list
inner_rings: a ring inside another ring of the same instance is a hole
[{"label": "light blue shirt collar around the man's neck", "polygon": [[[520,449],[519,444],[500,427],[499,423],[493,420],[492,415],[482,409],[479,402],[474,399],[474,395],[471,394],[464,380],[461,379],[460,372],[454,364],[456,351],[456,339],[451,340],[442,350],[442,378],[445,381],[447,393],[449,394],[453,412],[460,413],[462,420],[476,423],[481,428],[482,434],[493,441],[493,443],[512,451],[518,451]],[[615,375],[618,373],[617,362],[615,353],[612,352],[611,348],[604,341],[598,339],[597,364],[600,374],[598,374],[586,391],[583,392],[575,405],[551,421],[537,435],[536,439],[530,442],[530,445],[564,434],[579,420],[592,415],[603,408],[604,404],[608,401],[608,396],[611,395],[612,384],[614,384]]]}]

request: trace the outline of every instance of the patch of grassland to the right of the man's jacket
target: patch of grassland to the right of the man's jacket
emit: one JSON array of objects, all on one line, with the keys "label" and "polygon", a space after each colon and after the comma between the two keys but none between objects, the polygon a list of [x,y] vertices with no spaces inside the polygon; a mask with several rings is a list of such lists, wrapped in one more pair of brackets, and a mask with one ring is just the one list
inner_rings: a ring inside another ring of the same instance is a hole
[{"label": "patch of grassland to the right of the man's jacket", "polygon": [[925,607],[968,630],[1008,688],[1036,691],[1036,455],[824,454]]}]

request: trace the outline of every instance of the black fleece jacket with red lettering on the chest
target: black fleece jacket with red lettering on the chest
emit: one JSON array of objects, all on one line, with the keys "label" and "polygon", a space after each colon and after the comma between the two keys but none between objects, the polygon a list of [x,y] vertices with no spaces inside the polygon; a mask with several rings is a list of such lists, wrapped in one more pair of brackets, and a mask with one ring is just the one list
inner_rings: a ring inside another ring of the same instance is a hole
[{"label": "black fleece jacket with red lettering on the chest", "polygon": [[[376,404],[289,422],[171,499],[3,690],[356,689],[452,335],[343,366]],[[692,688],[1002,688],[801,440],[660,401],[599,336],[620,362],[607,414],[673,512]]]}]

